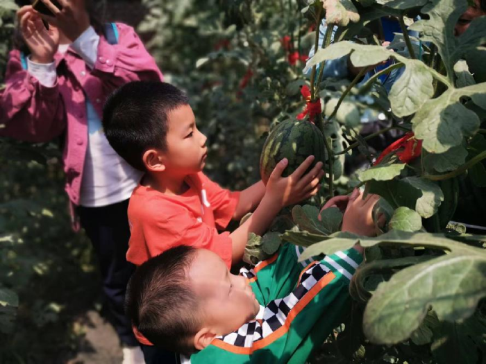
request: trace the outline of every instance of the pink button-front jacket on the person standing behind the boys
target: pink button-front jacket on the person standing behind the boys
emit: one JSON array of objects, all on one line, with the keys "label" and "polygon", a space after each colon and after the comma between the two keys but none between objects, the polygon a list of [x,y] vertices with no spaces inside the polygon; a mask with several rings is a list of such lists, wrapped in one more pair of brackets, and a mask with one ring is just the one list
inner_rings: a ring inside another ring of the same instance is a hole
[{"label": "pink button-front jacket on the person standing behind the boys", "polygon": [[117,44],[101,34],[97,62],[89,69],[72,49],[55,56],[58,78],[53,87],[40,85],[22,69],[19,51],[11,51],[6,88],[0,92],[0,135],[43,142],[66,131],[63,153],[65,189],[78,205],[87,148],[85,95],[102,115],[106,97],[117,87],[133,80],[162,80],[155,60],[146,51],[133,28],[116,24]]}]

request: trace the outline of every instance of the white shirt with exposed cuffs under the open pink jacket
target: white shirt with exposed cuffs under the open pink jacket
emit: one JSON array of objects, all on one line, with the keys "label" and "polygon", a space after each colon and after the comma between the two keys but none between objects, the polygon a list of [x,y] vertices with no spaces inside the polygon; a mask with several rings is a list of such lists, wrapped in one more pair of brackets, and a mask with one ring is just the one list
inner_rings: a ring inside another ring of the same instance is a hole
[{"label": "white shirt with exposed cuffs under the open pink jacket", "polygon": [[[90,26],[72,44],[72,49],[81,55],[92,68],[97,59],[99,35]],[[65,53],[69,44],[60,44],[58,52]],[[28,73],[41,85],[53,87],[56,83],[56,63],[38,64],[27,59]],[[101,207],[130,198],[142,172],[131,167],[108,143],[101,119],[92,103],[85,97],[88,143],[81,181],[79,205]]]}]

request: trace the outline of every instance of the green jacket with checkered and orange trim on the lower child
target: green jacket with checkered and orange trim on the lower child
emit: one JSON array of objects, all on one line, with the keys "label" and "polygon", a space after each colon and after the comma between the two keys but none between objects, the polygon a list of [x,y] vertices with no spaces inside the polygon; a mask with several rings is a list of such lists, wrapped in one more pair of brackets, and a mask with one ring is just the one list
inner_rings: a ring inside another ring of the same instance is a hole
[{"label": "green jacket with checkered and orange trim on the lower child", "polygon": [[350,249],[299,262],[302,252],[285,243],[253,269],[242,268],[260,302],[257,318],[181,363],[305,363],[349,312],[349,281],[362,257]]}]

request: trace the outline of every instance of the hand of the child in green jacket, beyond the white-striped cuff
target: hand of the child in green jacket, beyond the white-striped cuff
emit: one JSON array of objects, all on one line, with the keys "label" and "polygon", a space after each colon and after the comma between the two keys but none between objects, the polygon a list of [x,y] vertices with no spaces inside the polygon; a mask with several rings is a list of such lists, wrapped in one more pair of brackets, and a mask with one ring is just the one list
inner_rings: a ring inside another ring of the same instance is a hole
[{"label": "hand of the child in green jacket, beyond the white-striped cuff", "polygon": [[[342,231],[352,232],[362,236],[376,236],[376,227],[373,221],[373,207],[380,196],[370,193],[363,199],[363,194],[355,189],[349,197],[349,202],[342,218]],[[385,216],[380,216],[378,226],[384,225]]]}]

